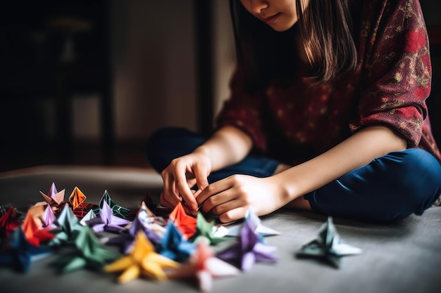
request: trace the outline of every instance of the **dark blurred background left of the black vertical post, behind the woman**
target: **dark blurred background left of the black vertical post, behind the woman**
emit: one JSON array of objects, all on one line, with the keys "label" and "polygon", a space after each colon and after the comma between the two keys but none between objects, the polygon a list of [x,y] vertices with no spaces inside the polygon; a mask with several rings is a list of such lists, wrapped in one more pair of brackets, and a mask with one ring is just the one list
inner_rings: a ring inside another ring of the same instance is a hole
[{"label": "dark blurred background left of the black vertical post, behind the woman", "polygon": [[0,170],[103,164],[108,138],[143,164],[154,129],[197,129],[196,3],[1,4]]}]

